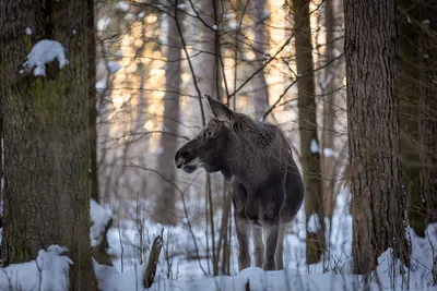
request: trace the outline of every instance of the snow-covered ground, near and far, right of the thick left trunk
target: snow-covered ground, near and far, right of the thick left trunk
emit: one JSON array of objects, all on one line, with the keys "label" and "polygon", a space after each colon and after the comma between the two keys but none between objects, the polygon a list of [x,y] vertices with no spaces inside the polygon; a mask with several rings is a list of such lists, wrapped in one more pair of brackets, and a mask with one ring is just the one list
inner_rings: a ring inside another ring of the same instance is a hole
[{"label": "snow-covered ground, near and far, right of the thick left trunk", "polygon": [[[430,225],[426,238],[415,235],[409,230],[412,243],[412,266],[403,267],[393,258],[391,250],[385,252],[378,259],[379,266],[368,279],[366,284],[362,276],[352,275],[352,217],[347,207],[349,193],[342,191],[338,195],[336,208],[333,214],[332,229],[327,231],[329,252],[322,263],[306,265],[305,246],[305,214],[300,209],[295,221],[290,226],[284,245],[283,271],[264,272],[251,267],[238,272],[237,255],[238,245],[233,233],[231,247],[231,274],[213,278],[204,275],[203,269],[212,269],[206,259],[187,260],[189,254],[194,253],[191,233],[186,223],[166,229],[164,241],[170,242],[168,253],[172,260],[172,280],[168,277],[168,264],[162,257],[158,263],[157,276],[152,290],[245,290],[249,279],[250,290],[437,290],[433,288],[433,257],[437,252],[437,223]],[[198,205],[203,205],[197,202]],[[194,205],[189,203],[189,205]],[[220,217],[217,217],[217,222]],[[318,223],[317,219],[314,221]],[[143,221],[144,244],[150,245],[153,238],[161,232],[161,225],[151,225],[147,219]],[[146,227],[145,227],[146,226]],[[329,226],[327,221],[327,226]],[[315,226],[316,227],[316,226]],[[139,223],[130,220],[123,221],[118,228],[113,228],[108,233],[110,252],[120,254],[121,246],[123,259],[114,260],[115,267],[95,266],[103,290],[123,290],[130,283],[129,290],[137,290],[142,286],[143,266],[139,265],[141,256]],[[199,248],[204,254],[206,245],[205,226],[193,228]],[[330,234],[328,234],[330,233]],[[147,254],[141,258],[147,262]],[[123,272],[121,274],[121,269]],[[401,276],[401,274],[404,274]],[[105,281],[103,278],[111,278]],[[118,278],[118,279],[117,279]]]}]

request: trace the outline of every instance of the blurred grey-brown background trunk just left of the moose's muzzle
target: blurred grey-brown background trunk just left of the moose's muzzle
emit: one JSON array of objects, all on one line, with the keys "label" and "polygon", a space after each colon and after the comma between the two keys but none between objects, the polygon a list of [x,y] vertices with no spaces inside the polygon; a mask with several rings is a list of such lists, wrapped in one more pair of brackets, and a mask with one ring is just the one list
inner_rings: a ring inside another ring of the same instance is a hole
[{"label": "blurred grey-brown background trunk just left of the moose's muzzle", "polygon": [[[177,0],[173,0],[172,7],[177,5]],[[168,180],[175,180],[174,156],[177,146],[176,135],[179,125],[179,85],[181,73],[181,41],[177,24],[181,25],[182,13],[177,9],[168,9],[167,23],[167,64],[165,71],[164,95],[164,131],[169,134],[161,135],[161,147],[164,151],[158,157],[158,171]],[[161,193],[156,197],[156,208],[154,219],[157,222],[175,225],[176,190],[167,181],[162,181]]]}]

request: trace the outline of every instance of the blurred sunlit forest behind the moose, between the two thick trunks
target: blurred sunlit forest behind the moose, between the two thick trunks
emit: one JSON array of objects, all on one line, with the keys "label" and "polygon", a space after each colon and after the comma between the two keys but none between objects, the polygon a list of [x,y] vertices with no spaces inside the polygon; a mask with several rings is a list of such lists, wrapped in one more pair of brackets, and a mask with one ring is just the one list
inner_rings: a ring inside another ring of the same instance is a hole
[{"label": "blurred sunlit forest behind the moose, between the two thick trunks", "polygon": [[[97,2],[99,201],[125,218],[202,221],[211,239],[201,256],[223,258],[228,270],[228,186],[220,173],[174,166],[176,149],[209,119],[201,96],[210,94],[281,125],[308,169],[306,220],[327,217],[324,232],[347,161],[341,2]],[[314,263],[318,234],[308,234]]]}]

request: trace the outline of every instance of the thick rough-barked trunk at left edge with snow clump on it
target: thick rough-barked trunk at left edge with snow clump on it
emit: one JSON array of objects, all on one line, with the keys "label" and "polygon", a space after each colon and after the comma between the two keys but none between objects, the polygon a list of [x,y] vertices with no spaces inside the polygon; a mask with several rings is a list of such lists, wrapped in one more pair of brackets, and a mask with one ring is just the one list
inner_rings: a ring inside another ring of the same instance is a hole
[{"label": "thick rough-barked trunk at left edge with snow clump on it", "polygon": [[[4,120],[3,264],[69,248],[70,290],[96,290],[90,246],[87,1],[1,1]],[[33,34],[26,35],[29,27]],[[37,40],[60,41],[70,61],[46,76],[19,73]]]}]

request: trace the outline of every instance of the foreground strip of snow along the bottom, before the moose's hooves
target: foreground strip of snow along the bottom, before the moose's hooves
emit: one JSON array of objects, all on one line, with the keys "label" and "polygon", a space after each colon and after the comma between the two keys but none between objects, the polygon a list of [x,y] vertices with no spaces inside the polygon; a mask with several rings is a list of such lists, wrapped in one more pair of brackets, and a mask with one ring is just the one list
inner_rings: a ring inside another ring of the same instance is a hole
[{"label": "foreground strip of snow along the bottom, before the moose's hooves", "polygon": [[[236,276],[208,277],[192,280],[180,278],[168,280],[158,275],[150,290],[437,290],[430,282],[422,277],[421,271],[411,271],[408,276],[391,276],[393,268],[400,267],[393,262],[391,251],[387,251],[379,258],[380,265],[368,283],[363,276],[333,272],[302,272],[294,268],[281,271],[263,271],[251,267],[244,269]],[[399,269],[399,268],[398,268]],[[95,266],[97,279],[102,290],[141,290],[143,269],[141,266],[118,272],[113,267]],[[415,276],[418,275],[418,276]],[[247,289],[249,284],[249,289]]]}]

